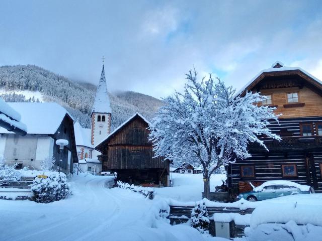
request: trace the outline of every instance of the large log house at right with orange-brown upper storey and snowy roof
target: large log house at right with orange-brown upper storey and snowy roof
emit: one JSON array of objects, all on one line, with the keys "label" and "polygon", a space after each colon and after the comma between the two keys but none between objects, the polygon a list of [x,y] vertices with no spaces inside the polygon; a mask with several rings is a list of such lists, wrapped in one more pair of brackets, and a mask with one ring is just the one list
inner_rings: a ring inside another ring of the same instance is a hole
[{"label": "large log house at right with orange-brown upper storey and snowy roof", "polygon": [[231,193],[251,190],[269,180],[289,180],[322,192],[322,82],[297,67],[276,62],[260,72],[244,89],[268,96],[260,104],[282,113],[269,128],[282,141],[262,137],[269,149],[250,145],[252,155],[227,167]]}]

